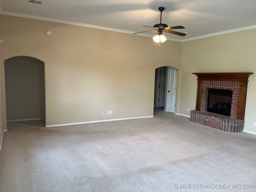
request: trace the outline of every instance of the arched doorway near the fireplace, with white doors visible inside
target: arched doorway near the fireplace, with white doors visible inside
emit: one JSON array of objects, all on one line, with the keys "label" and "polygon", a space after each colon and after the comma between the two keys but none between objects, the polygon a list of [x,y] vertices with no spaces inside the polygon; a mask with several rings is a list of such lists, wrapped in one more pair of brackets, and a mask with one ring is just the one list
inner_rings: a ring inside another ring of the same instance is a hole
[{"label": "arched doorway near the fireplace, with white doors visible inside", "polygon": [[154,108],[176,113],[177,72],[171,66],[155,70]]}]

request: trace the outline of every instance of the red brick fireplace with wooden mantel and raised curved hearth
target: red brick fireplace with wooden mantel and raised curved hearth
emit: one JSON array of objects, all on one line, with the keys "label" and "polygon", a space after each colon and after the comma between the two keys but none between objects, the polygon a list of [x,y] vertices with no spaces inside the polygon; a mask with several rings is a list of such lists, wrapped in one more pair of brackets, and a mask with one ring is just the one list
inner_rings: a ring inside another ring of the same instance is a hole
[{"label": "red brick fireplace with wooden mantel and raised curved hearth", "polygon": [[[224,130],[242,132],[248,77],[253,73],[193,73],[198,76],[196,110],[191,111],[190,121]],[[208,90],[232,90],[230,116],[207,111]]]}]

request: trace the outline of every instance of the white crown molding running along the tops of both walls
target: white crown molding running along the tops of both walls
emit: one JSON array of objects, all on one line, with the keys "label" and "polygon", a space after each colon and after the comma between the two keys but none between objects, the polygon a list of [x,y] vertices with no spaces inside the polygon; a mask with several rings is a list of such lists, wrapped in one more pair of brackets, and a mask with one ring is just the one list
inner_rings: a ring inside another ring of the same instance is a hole
[{"label": "white crown molding running along the tops of both walls", "polygon": [[[68,24],[68,25],[76,25],[76,26],[82,26],[82,27],[88,27],[88,28],[94,28],[94,29],[100,29],[100,30],[126,33],[126,34],[135,33],[135,32],[126,31],[126,30],[120,30],[120,29],[114,29],[114,28],[84,24],[84,23],[78,23],[78,22],[72,22],[72,21],[66,21],[66,20],[60,20],[60,19],[53,19],[53,18],[48,18],[48,17],[41,17],[41,16],[34,16],[34,15],[28,15],[28,14],[1,11],[1,7],[0,7],[0,14],[8,15],[8,16],[30,18],[30,19],[37,19],[37,20],[44,20],[44,21],[50,21],[50,22],[57,22],[57,23],[63,23],[63,24]],[[167,40],[178,41],[178,42],[186,42],[186,41],[192,41],[192,40],[197,40],[197,39],[202,39],[202,38],[207,38],[207,37],[212,37],[212,36],[217,36],[217,35],[222,35],[222,34],[227,34],[227,33],[233,33],[233,32],[238,32],[238,31],[250,30],[250,29],[255,29],[255,28],[256,28],[256,25],[253,25],[253,26],[242,27],[242,28],[238,28],[238,29],[232,29],[232,30],[222,31],[222,32],[218,32],[218,33],[212,33],[212,34],[208,34],[208,35],[203,35],[203,36],[198,36],[198,37],[193,37],[193,38],[188,38],[188,39],[183,39],[183,40],[174,39],[174,38],[167,38]],[[149,35],[149,34],[136,34],[136,35],[144,36],[144,37],[150,37],[150,38],[153,37],[152,35]]]}]

